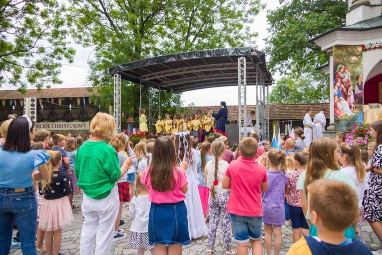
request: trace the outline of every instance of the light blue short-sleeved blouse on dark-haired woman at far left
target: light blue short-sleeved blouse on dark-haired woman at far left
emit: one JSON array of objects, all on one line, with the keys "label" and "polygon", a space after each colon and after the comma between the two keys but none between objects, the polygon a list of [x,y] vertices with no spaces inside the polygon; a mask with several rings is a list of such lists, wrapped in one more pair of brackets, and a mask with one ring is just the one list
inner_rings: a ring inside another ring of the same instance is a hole
[{"label": "light blue short-sleeved blouse on dark-haired woman at far left", "polygon": [[0,148],[0,187],[31,187],[32,172],[41,164],[47,163],[49,154],[44,150],[27,152],[8,151]]}]

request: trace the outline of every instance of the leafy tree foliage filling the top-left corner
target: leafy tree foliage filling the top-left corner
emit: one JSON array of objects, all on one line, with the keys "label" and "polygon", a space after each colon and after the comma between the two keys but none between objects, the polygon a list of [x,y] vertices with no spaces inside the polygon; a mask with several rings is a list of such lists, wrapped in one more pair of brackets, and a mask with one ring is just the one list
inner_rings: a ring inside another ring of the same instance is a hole
[{"label": "leafy tree foliage filling the top-left corner", "polygon": [[61,83],[60,61],[73,61],[65,8],[56,0],[0,1],[0,86],[25,90]]}]

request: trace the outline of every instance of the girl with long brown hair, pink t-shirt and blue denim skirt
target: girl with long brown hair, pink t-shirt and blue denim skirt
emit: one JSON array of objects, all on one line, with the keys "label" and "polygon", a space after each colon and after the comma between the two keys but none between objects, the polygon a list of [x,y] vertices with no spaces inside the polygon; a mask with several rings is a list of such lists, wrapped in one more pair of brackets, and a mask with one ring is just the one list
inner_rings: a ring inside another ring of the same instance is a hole
[{"label": "girl with long brown hair, pink t-shirt and blue denim skirt", "polygon": [[[167,136],[155,140],[152,163],[143,170],[141,183],[147,187],[151,202],[148,219],[149,244],[155,253],[182,254],[182,245],[190,243],[187,207],[184,203],[188,189],[183,158],[177,165],[175,147]],[[155,217],[154,217],[155,215]]]}]

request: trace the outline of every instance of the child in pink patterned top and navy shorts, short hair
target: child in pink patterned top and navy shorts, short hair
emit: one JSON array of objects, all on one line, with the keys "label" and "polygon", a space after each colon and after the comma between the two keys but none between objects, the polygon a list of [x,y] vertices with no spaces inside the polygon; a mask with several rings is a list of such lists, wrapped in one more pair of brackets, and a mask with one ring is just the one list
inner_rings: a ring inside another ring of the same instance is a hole
[{"label": "child in pink patterned top and navy shorts, short hair", "polygon": [[309,235],[309,225],[305,219],[301,201],[300,189],[297,188],[297,180],[305,171],[308,163],[308,154],[298,151],[293,156],[295,171],[288,172],[288,185],[285,193],[288,195],[289,218],[292,223],[293,242],[300,240],[301,234]]}]

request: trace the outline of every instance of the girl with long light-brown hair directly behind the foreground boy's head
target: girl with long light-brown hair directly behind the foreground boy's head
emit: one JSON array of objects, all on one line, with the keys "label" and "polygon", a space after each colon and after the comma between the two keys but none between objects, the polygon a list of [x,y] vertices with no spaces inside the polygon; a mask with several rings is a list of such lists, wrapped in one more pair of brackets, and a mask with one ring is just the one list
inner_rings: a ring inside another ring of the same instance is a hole
[{"label": "girl with long light-brown hair directly behind the foreground boy's head", "polygon": [[[307,206],[307,186],[313,181],[322,178],[336,179],[351,185],[357,190],[354,181],[349,176],[339,171],[340,166],[337,163],[340,154],[340,148],[335,139],[330,137],[319,137],[312,141],[309,150],[309,159],[307,168],[303,171],[297,181],[297,188],[300,189],[302,205],[305,217],[309,221],[308,206]],[[355,224],[345,230],[345,237],[355,239],[358,223],[355,218]],[[310,236],[317,236],[317,228],[310,223]]]}]

